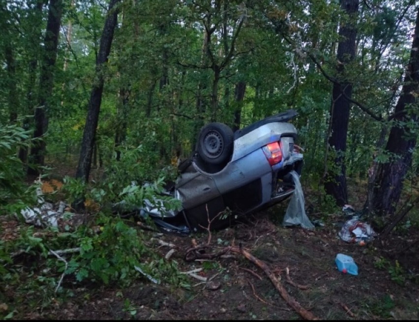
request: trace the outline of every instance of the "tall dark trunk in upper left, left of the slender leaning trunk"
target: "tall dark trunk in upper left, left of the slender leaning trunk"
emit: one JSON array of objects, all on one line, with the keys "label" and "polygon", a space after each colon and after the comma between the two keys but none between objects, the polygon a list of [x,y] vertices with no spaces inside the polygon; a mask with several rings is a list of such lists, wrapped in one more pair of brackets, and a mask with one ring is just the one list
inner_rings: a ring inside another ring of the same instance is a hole
[{"label": "tall dark trunk in upper left, left of the slender leaning trunk", "polygon": [[[42,137],[48,130],[48,99],[52,95],[54,86],[54,66],[57,60],[58,37],[60,35],[62,2],[50,0],[48,9],[47,29],[44,40],[44,53],[39,76],[38,106],[35,108],[33,137]],[[44,165],[46,144],[41,140],[30,151],[31,162]],[[28,168],[28,174],[38,175],[39,171]]]}]

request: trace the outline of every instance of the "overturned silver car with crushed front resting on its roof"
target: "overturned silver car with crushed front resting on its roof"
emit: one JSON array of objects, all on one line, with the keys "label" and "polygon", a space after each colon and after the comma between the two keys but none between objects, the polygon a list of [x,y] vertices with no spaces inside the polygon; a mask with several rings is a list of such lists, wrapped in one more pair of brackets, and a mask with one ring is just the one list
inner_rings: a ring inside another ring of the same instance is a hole
[{"label": "overturned silver car with crushed front resting on its roof", "polygon": [[288,198],[295,190],[291,172],[300,175],[303,162],[294,143],[297,129],[288,123],[297,114],[288,110],[236,132],[222,123],[204,126],[196,152],[180,164],[179,178],[167,192],[182,208],[166,211],[154,200],[146,202],[142,215],[163,230],[188,233],[208,228],[210,221],[211,229],[221,228]]}]

